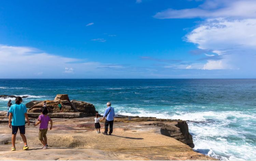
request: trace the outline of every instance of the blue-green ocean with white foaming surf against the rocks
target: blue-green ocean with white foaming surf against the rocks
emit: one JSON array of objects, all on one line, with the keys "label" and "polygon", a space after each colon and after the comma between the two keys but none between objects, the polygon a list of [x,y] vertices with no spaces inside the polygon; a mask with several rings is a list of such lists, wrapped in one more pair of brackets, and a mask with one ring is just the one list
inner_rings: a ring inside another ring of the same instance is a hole
[{"label": "blue-green ocean with white foaming surf against the rocks", "polygon": [[1,94],[25,103],[69,94],[101,114],[111,101],[121,115],[188,120],[195,151],[256,160],[256,79],[0,79]]}]

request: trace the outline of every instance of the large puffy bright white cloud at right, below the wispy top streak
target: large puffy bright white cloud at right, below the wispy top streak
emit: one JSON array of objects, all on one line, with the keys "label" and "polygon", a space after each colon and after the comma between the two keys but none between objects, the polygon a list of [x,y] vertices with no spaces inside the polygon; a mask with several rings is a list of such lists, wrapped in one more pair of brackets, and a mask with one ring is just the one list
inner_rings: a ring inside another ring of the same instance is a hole
[{"label": "large puffy bright white cloud at right, below the wispy top streak", "polygon": [[220,50],[236,47],[256,48],[256,19],[208,19],[186,37],[200,49]]}]

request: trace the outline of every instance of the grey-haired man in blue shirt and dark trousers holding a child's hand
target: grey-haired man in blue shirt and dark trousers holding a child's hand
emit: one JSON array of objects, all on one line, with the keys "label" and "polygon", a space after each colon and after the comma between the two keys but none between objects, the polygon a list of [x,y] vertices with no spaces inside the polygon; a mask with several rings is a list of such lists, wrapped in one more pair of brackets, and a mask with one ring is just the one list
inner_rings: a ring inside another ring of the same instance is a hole
[{"label": "grey-haired man in blue shirt and dark trousers holding a child's hand", "polygon": [[107,108],[105,109],[105,113],[103,118],[100,120],[105,120],[105,131],[102,133],[104,135],[108,135],[108,127],[109,127],[109,135],[113,132],[113,124],[114,124],[114,117],[115,117],[115,110],[113,107],[111,107],[111,103],[107,103]]}]

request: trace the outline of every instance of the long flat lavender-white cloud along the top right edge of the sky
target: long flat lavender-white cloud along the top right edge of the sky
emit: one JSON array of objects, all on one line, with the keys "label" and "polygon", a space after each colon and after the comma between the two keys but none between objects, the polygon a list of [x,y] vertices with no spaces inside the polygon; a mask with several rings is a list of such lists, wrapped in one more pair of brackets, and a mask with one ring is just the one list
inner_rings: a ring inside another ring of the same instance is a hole
[{"label": "long flat lavender-white cloud along the top right edge of the sky", "polygon": [[255,0],[207,0],[197,8],[158,12],[154,17],[166,18],[256,18]]}]

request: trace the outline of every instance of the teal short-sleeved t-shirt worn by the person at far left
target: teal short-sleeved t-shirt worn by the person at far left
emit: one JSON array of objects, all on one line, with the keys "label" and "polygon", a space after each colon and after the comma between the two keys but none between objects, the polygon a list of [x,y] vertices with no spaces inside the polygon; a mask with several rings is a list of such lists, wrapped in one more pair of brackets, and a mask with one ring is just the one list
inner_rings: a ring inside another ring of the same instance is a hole
[{"label": "teal short-sleeved t-shirt worn by the person at far left", "polygon": [[12,126],[25,125],[25,113],[27,113],[26,105],[14,104],[11,105],[9,112],[12,113]]}]

